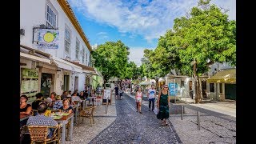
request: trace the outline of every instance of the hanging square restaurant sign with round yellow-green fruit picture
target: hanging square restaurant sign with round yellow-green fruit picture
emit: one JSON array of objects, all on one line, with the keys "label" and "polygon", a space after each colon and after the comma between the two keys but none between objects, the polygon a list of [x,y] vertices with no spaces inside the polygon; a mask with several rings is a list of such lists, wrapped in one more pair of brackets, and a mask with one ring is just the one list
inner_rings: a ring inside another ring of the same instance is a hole
[{"label": "hanging square restaurant sign with round yellow-green fruit picture", "polygon": [[38,33],[39,49],[58,49],[58,30],[40,29]]}]

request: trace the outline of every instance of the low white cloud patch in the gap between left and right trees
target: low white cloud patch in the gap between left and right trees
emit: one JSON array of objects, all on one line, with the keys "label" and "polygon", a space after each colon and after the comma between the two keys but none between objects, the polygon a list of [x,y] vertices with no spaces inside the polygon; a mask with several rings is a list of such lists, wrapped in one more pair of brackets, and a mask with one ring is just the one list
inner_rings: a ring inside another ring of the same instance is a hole
[{"label": "low white cloud patch in the gap between left and right trees", "polygon": [[144,47],[130,47],[130,54],[129,54],[129,60],[130,62],[134,62],[137,66],[141,66],[142,62],[141,59],[144,55],[145,49],[154,49],[154,48],[144,48]]}]

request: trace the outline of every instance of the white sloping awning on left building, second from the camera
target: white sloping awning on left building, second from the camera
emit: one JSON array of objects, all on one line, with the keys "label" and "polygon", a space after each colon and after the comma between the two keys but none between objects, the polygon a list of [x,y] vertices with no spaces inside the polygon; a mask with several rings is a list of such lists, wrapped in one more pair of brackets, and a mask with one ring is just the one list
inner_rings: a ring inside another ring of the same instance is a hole
[{"label": "white sloping awning on left building, second from the camera", "polygon": [[66,60],[63,60],[61,58],[57,58],[54,56],[52,56],[52,60],[55,63],[55,65],[58,66],[59,68],[82,73],[82,67],[80,66],[74,65],[73,63],[70,63],[70,62],[66,62]]}]

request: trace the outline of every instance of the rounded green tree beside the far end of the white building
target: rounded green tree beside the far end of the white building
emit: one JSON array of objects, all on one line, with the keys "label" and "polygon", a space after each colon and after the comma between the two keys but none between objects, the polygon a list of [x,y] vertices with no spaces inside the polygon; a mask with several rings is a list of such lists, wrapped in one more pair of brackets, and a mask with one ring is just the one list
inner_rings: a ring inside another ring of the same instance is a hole
[{"label": "rounded green tree beside the far end of the white building", "polygon": [[94,66],[102,73],[104,87],[111,77],[126,77],[129,54],[129,47],[121,41],[105,42],[92,52]]}]

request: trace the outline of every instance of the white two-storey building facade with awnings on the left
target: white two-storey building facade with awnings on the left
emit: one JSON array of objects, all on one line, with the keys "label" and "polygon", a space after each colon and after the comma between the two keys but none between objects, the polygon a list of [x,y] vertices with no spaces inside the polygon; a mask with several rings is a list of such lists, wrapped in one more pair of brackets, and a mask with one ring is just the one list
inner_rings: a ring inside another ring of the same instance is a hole
[{"label": "white two-storey building facade with awnings on the left", "polygon": [[[66,0],[20,1],[20,29],[24,32],[20,37],[21,45],[35,50],[28,53],[50,54],[50,63],[31,59],[31,55],[21,57],[21,87],[22,80],[25,81],[23,69],[38,71],[37,91],[45,95],[51,92],[61,95],[64,90],[82,91],[86,84],[90,85],[91,80],[86,78],[91,74],[76,63],[90,67],[92,48]],[[43,30],[55,31],[58,48],[39,46]]]}]

